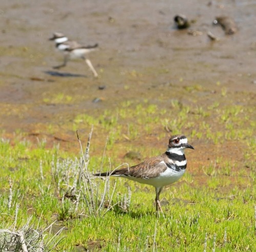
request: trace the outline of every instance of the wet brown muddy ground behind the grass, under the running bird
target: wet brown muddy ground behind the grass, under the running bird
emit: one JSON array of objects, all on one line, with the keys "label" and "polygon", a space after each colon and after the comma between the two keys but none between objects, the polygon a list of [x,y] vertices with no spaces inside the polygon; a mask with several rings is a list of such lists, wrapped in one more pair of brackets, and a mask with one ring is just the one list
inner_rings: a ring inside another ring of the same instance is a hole
[{"label": "wet brown muddy ground behind the grass, under the running bird", "polygon": [[[81,113],[100,114],[124,100],[138,103],[146,98],[168,108],[175,98],[207,106],[223,88],[233,94],[227,103],[255,107],[255,1],[1,3],[0,127],[4,136],[12,138],[19,130],[28,138],[65,139],[77,147],[73,130],[60,127],[49,133],[47,125],[63,125]],[[173,18],[179,13],[193,20],[189,30],[201,35],[177,30]],[[225,35],[221,27],[212,25],[220,15],[234,19],[236,34]],[[208,31],[220,41],[211,41]],[[52,68],[62,62],[48,41],[53,32],[86,45],[99,43],[99,51],[89,57],[98,79],[81,60],[61,70]],[[190,93],[185,86],[202,88]],[[95,98],[100,102],[93,102]]]}]

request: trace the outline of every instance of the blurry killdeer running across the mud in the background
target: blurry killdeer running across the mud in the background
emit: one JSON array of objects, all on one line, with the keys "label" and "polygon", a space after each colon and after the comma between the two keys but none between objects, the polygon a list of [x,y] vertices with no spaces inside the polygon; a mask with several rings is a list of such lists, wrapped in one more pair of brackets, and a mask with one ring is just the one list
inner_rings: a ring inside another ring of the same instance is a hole
[{"label": "blurry killdeer running across the mud in the background", "polygon": [[54,40],[56,48],[64,54],[63,63],[53,68],[58,69],[66,66],[70,59],[81,58],[86,61],[87,65],[92,70],[94,77],[98,77],[98,73],[94,69],[91,61],[86,58],[86,55],[94,51],[98,47],[98,44],[83,46],[76,41],[69,40],[64,34],[58,32],[55,32],[49,40]]}]

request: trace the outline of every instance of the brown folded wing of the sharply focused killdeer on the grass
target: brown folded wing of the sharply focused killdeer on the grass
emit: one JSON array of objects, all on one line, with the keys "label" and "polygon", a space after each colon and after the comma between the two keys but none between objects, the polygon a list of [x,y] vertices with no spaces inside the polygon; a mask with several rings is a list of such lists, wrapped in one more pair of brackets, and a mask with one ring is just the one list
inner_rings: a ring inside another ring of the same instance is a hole
[{"label": "brown folded wing of the sharply focused killdeer on the grass", "polygon": [[164,163],[161,163],[162,161],[162,156],[150,158],[138,165],[115,170],[111,175],[127,175],[143,179],[155,178],[167,168]]}]

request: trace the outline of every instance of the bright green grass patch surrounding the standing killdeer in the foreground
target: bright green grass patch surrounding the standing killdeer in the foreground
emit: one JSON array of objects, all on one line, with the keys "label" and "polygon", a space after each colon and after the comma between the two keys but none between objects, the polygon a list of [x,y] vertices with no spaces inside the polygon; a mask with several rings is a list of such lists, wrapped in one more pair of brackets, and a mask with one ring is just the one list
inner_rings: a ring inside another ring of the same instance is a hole
[{"label": "bright green grass patch surrounding the standing killdeer in the foreground", "polygon": [[[44,230],[45,241],[53,238],[48,250],[54,251],[254,251],[253,113],[247,107],[213,103],[203,108],[177,100],[161,109],[144,100],[125,102],[98,116],[77,115],[73,129],[94,125],[90,158],[84,149],[83,162],[59,146],[46,148],[45,141],[32,144],[22,133],[14,142],[2,139],[0,229],[27,234],[29,223]],[[164,214],[159,218],[153,187],[92,176],[122,162],[134,164],[120,157],[129,150],[142,157],[159,154],[154,144],[136,146],[130,140],[154,136],[162,141],[166,134],[181,132],[196,144],[195,151],[202,143],[211,146],[205,152],[211,150],[214,158],[197,164],[188,155],[184,177],[161,194]],[[238,159],[222,153],[223,146],[233,149],[237,144],[244,146]]]}]

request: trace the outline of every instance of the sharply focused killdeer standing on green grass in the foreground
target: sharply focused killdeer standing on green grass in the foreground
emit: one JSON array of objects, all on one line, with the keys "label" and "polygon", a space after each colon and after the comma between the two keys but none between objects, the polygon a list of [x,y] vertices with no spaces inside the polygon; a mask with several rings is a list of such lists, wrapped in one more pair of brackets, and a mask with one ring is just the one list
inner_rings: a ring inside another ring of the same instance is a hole
[{"label": "sharply focused killdeer standing on green grass in the foreground", "polygon": [[162,212],[159,195],[164,186],[173,184],[184,174],[187,166],[184,155],[185,148],[194,149],[192,145],[187,143],[185,136],[175,135],[170,137],[166,152],[160,156],[147,159],[132,167],[93,175],[97,177],[121,177],[154,186],[156,188],[156,211],[157,213],[159,210]]}]

